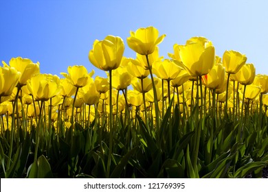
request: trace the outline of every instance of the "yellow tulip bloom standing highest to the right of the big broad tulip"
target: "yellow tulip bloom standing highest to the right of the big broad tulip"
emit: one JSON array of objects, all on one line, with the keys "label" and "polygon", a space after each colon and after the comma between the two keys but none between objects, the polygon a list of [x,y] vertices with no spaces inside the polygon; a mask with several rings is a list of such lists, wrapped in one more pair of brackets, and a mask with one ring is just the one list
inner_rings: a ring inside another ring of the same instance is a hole
[{"label": "yellow tulip bloom standing highest to the right of the big broad tulip", "polygon": [[225,51],[223,53],[223,67],[226,73],[235,74],[247,61],[247,57],[238,51]]}]

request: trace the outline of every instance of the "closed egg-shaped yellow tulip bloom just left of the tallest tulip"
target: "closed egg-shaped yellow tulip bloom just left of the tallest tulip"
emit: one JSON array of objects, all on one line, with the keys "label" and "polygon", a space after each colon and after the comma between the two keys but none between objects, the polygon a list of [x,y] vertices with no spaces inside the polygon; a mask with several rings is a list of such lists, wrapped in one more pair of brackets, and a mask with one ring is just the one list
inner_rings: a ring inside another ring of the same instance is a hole
[{"label": "closed egg-shaped yellow tulip bloom just left of the tallest tulip", "polygon": [[89,51],[90,62],[98,69],[111,71],[117,69],[124,53],[124,42],[118,36],[107,36],[104,40],[95,40]]}]

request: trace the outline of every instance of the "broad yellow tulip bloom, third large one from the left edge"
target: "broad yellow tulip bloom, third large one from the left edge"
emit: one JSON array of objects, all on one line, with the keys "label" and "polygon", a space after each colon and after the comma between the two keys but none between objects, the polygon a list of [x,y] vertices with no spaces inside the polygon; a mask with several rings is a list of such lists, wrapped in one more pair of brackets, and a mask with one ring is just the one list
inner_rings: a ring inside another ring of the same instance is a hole
[{"label": "broad yellow tulip bloom, third large one from the left edge", "polygon": [[34,75],[27,81],[27,88],[35,101],[47,101],[60,93],[60,79],[50,74]]}]

